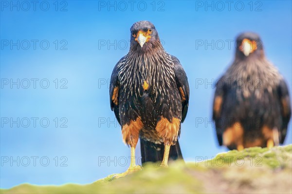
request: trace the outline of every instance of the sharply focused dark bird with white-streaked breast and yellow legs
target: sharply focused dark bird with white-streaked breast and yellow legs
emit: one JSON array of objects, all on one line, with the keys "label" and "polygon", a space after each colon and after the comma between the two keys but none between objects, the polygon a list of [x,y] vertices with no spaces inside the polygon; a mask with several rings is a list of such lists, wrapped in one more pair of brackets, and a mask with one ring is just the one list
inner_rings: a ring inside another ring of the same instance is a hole
[{"label": "sharply focused dark bird with white-streaked breast and yellow legs", "polygon": [[135,147],[140,137],[142,162],[182,159],[181,122],[185,119],[189,85],[180,61],[168,54],[158,32],[149,21],[130,29],[130,49],[114,67],[110,80],[110,107],[122,126],[123,141],[131,147],[128,170],[135,164]]}]

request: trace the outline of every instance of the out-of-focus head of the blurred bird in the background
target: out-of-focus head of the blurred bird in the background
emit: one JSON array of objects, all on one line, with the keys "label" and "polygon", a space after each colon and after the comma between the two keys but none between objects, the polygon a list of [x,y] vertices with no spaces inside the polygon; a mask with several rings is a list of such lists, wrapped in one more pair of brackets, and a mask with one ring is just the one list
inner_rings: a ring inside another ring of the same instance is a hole
[{"label": "out-of-focus head of the blurred bird in the background", "polygon": [[236,55],[240,58],[247,58],[251,56],[263,56],[262,41],[256,33],[245,32],[237,37],[237,51]]}]

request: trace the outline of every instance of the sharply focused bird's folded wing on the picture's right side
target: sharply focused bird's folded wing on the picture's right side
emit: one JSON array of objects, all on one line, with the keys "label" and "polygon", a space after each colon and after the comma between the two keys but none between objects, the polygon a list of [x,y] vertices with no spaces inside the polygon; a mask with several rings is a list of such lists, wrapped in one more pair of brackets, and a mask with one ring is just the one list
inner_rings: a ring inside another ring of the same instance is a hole
[{"label": "sharply focused bird's folded wing on the picture's right side", "polygon": [[187,109],[188,109],[188,101],[189,101],[189,95],[190,95],[190,89],[187,81],[186,74],[183,70],[183,66],[181,65],[180,61],[175,57],[171,56],[173,63],[174,63],[174,73],[175,78],[177,82],[177,87],[180,91],[181,97],[182,97],[182,123],[185,119]]}]

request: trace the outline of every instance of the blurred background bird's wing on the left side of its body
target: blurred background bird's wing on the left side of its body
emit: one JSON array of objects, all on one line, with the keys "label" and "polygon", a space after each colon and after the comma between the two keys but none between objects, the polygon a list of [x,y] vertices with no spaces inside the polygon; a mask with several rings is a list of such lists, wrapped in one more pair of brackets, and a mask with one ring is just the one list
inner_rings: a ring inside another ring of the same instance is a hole
[{"label": "blurred background bird's wing on the left side of its body", "polygon": [[215,96],[214,96],[214,101],[213,101],[213,120],[215,121],[216,134],[217,134],[217,138],[218,138],[218,142],[220,146],[222,146],[222,143],[223,143],[222,141],[223,129],[219,127],[219,119],[221,117],[223,100],[224,100],[224,87],[218,87],[218,85],[216,85],[216,91],[215,91]]}]

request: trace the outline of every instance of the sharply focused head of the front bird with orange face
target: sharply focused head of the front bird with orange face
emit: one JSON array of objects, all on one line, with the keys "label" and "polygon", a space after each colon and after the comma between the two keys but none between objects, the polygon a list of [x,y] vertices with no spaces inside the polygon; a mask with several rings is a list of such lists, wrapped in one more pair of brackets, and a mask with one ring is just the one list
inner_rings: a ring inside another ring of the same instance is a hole
[{"label": "sharply focused head of the front bird with orange face", "polygon": [[149,21],[138,21],[134,23],[131,31],[131,48],[146,50],[161,46],[158,32]]}]

